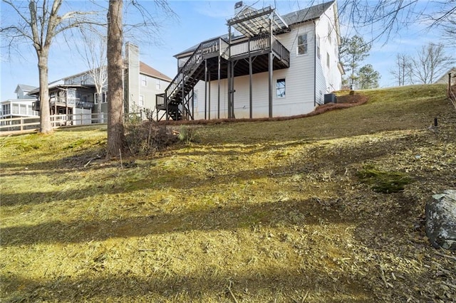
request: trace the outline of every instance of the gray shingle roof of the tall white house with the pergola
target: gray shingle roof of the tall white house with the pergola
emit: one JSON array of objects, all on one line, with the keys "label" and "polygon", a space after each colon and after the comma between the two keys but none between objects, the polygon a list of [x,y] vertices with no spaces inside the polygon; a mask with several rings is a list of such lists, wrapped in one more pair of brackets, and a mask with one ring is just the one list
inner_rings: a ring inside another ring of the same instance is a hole
[{"label": "gray shingle roof of the tall white house with the pergola", "polygon": [[[316,18],[319,18],[326,11],[326,9],[328,9],[329,6],[331,6],[334,2],[335,2],[335,0],[328,1],[328,2],[323,3],[323,4],[317,4],[317,5],[308,7],[307,9],[301,9],[299,11],[293,11],[293,12],[291,12],[289,14],[282,15],[281,17],[284,19],[284,21],[289,26],[293,25],[293,24],[303,23],[303,22],[306,22],[306,21],[311,21],[311,20],[314,20]],[[214,37],[214,38],[222,38],[222,39],[227,40],[228,39],[228,34],[224,34],[222,36]],[[212,40],[214,38],[207,39],[206,41],[210,41],[210,40]],[[205,41],[202,41],[202,42],[205,42]],[[197,49],[199,44],[200,43],[198,43],[195,46],[192,46],[190,48],[187,48],[186,50],[182,50],[180,53],[177,53],[174,56],[177,58],[180,55],[184,55],[185,53],[191,53],[191,52],[193,52],[194,50]]]}]

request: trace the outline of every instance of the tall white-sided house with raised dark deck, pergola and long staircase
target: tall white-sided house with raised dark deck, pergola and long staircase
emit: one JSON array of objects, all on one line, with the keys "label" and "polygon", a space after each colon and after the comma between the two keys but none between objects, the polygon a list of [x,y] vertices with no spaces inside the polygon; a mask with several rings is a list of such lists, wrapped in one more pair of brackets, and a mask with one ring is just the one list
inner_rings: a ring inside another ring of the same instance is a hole
[{"label": "tall white-sided house with raised dark deck, pergola and long staircase", "polygon": [[336,1],[284,16],[242,2],[235,10],[228,35],[175,55],[178,74],[157,95],[159,119],[300,115],[341,89]]}]

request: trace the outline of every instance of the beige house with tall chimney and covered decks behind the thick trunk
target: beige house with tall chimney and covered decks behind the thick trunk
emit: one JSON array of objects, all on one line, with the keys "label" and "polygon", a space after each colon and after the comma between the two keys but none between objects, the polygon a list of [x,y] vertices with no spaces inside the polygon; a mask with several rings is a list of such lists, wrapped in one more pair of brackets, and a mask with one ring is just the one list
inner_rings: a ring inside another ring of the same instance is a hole
[{"label": "beige house with tall chimney and covered decks behind the thick trunk", "polygon": [[[138,46],[126,43],[125,54],[125,114],[137,113],[145,108],[155,110],[155,95],[165,92],[165,87],[170,84],[171,79],[140,62]],[[107,79],[105,80],[107,82]],[[59,124],[107,122],[106,90],[107,83],[98,95],[93,73],[90,71],[62,78],[49,85],[51,115],[70,115],[61,117],[62,121]],[[39,87],[30,93],[38,99]],[[40,110],[39,100],[34,102],[34,110]]]}]

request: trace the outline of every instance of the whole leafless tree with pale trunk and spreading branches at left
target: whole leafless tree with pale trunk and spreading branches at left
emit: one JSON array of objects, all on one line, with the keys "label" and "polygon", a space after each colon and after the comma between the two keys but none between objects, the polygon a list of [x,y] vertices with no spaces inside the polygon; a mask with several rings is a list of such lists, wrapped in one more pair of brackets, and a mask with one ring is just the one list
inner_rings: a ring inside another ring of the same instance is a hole
[{"label": "whole leafless tree with pale trunk and spreading branches at left", "polygon": [[38,58],[39,100],[40,100],[40,132],[52,132],[51,113],[49,108],[48,89],[48,58],[49,49],[59,33],[88,23],[86,16],[94,12],[69,11],[59,14],[63,0],[22,1],[3,0],[11,6],[19,16],[19,22],[1,27],[1,35],[9,38],[10,47],[13,41],[25,39],[32,43]]}]

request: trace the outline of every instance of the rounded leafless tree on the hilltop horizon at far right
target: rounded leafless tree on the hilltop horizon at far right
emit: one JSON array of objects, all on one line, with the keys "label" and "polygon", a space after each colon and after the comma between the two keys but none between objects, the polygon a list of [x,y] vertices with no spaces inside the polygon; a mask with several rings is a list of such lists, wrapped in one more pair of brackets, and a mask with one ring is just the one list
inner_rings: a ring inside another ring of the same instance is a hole
[{"label": "rounded leafless tree on the hilltop horizon at far right", "polygon": [[418,50],[417,57],[413,59],[413,73],[420,83],[433,83],[453,63],[443,48],[441,43],[429,43]]}]

